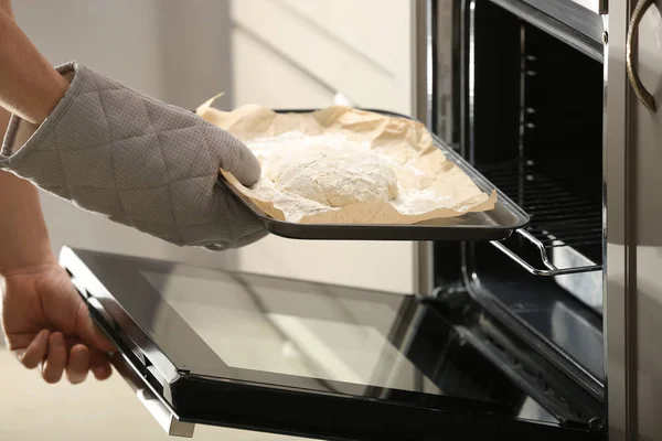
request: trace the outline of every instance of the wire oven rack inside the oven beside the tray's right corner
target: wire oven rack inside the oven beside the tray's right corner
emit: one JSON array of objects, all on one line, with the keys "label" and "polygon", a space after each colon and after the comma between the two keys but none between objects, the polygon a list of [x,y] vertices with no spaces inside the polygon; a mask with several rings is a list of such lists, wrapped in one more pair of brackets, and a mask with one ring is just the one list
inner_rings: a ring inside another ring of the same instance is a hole
[{"label": "wire oven rack inside the oven beside the tray's right corner", "polygon": [[[587,179],[587,171],[580,166],[573,169],[548,159],[520,159],[477,168],[531,217],[526,227],[515,232],[514,239],[491,241],[495,248],[534,276],[602,269],[599,178]],[[584,184],[594,182],[598,185]],[[578,254],[581,263],[559,268],[554,254],[564,251]],[[540,261],[532,263],[533,256]]]}]

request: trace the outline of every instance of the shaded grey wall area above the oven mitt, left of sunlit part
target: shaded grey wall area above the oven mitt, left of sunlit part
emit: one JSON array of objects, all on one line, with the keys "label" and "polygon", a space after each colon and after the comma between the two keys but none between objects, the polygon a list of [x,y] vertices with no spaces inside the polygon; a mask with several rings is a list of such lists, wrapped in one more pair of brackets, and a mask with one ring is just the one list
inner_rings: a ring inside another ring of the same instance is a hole
[{"label": "shaded grey wall area above the oven mitt, left of sunlit part", "polygon": [[14,1],[17,20],[53,64],[75,60],[181,107],[221,90],[232,104],[229,0]]}]

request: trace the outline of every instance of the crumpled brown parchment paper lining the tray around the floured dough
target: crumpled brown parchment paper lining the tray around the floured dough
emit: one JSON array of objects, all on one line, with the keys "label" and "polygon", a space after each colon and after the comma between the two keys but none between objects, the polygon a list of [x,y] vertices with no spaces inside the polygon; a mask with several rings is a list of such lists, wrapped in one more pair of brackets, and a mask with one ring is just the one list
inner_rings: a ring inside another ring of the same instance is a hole
[{"label": "crumpled brown parchment paper lining the tray around the floured dough", "polygon": [[[437,208],[416,215],[401,214],[389,203],[360,203],[305,216],[299,220],[301,224],[412,225],[494,208],[496,193],[492,191],[491,195],[487,195],[481,192],[459,166],[447,160],[444,152],[434,146],[430,133],[420,122],[342,106],[306,114],[277,114],[256,105],[221,111],[211,107],[214,99],[216,97],[200,106],[197,115],[244,142],[292,131],[309,136],[340,132],[348,140],[367,142],[370,148],[401,162],[412,161],[410,164],[425,173],[423,176],[398,176],[401,186],[430,189],[438,194],[452,196],[457,202],[449,208]],[[260,200],[231,173],[221,170],[221,174],[235,193],[258,212],[274,219],[285,220],[284,213],[270,201]]]}]

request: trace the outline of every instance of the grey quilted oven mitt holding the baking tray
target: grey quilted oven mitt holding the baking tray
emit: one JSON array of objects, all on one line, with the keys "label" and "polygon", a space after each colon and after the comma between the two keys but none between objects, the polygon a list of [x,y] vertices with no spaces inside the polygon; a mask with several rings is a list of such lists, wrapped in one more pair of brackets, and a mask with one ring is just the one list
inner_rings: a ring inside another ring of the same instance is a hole
[{"label": "grey quilted oven mitt holding the baking tray", "polygon": [[121,86],[77,63],[71,86],[35,127],[12,116],[0,168],[120,224],[177,245],[220,250],[266,235],[217,183],[260,174],[250,151],[195,114]]}]

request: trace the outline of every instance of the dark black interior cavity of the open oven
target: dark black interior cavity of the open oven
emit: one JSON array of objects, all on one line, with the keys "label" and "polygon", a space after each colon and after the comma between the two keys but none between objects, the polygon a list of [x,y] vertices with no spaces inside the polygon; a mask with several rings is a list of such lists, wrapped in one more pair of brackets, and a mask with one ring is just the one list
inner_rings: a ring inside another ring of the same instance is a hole
[{"label": "dark black interior cavity of the open oven", "polygon": [[484,351],[556,417],[587,421],[605,400],[604,66],[492,1],[457,17],[455,144],[531,224],[499,244],[435,244],[436,301],[474,314]]}]

